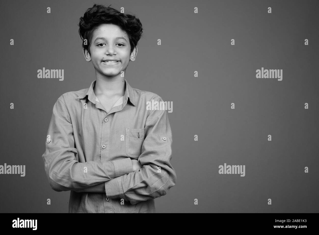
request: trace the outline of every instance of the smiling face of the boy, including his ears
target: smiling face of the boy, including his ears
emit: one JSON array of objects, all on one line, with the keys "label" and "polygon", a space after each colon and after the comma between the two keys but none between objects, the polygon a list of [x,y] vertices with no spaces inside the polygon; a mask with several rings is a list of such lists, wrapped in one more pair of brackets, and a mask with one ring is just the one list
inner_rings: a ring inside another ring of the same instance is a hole
[{"label": "smiling face of the boy, including his ears", "polygon": [[[121,71],[125,73],[130,60],[135,61],[137,54],[137,47],[130,54],[131,47],[127,33],[113,24],[102,24],[96,28],[89,47],[91,53],[84,51],[85,60],[92,61],[96,72],[102,77],[121,76]],[[104,62],[108,59],[118,62]]]}]

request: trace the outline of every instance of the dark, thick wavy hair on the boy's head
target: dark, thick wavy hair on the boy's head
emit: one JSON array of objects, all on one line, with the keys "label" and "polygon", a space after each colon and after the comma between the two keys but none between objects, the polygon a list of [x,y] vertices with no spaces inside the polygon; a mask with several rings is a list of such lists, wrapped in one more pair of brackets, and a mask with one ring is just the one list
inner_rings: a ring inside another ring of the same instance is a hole
[{"label": "dark, thick wavy hair on the boy's head", "polygon": [[[83,49],[87,49],[90,53],[90,45],[94,30],[101,24],[115,24],[125,31],[129,36],[131,51],[140,40],[143,28],[141,21],[135,15],[121,13],[116,9],[110,7],[94,4],[93,7],[88,8],[83,17],[80,17],[79,34],[82,39]],[[87,39],[87,45],[84,45],[84,39]],[[91,53],[90,53],[91,54]]]}]

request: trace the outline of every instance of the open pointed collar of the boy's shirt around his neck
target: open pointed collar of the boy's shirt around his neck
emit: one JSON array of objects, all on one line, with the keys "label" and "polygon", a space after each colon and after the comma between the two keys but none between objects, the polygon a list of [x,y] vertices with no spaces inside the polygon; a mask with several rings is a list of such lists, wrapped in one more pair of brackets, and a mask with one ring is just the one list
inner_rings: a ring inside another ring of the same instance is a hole
[{"label": "open pointed collar of the boy's shirt around his neck", "polygon": [[[130,100],[130,102],[136,106],[136,97],[134,96],[135,93],[133,91],[133,88],[130,86],[130,84],[127,82],[126,79],[125,80],[125,94],[123,96],[123,103],[126,103],[128,100]],[[94,90],[93,87],[95,85],[96,79],[91,83],[91,86],[89,88],[84,89],[79,95],[78,98],[79,99],[83,99],[86,96],[88,96],[89,101],[95,103],[96,102],[96,96],[94,94]]]}]

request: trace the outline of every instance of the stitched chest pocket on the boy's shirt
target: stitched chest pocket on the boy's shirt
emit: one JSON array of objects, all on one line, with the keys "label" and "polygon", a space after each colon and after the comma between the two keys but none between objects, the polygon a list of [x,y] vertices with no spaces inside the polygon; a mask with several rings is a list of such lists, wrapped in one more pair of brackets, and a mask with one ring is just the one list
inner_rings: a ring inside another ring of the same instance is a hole
[{"label": "stitched chest pocket on the boy's shirt", "polygon": [[145,128],[125,130],[125,151],[129,157],[139,157],[145,136]]}]

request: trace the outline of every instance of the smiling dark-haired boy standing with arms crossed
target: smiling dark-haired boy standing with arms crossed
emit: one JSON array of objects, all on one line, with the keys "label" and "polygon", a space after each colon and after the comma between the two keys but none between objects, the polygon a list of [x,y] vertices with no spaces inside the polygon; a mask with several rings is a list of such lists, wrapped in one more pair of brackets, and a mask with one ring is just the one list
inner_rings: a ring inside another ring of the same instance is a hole
[{"label": "smiling dark-haired boy standing with arms crossed", "polygon": [[155,213],[154,199],[175,185],[176,173],[167,110],[146,108],[162,98],[124,79],[142,24],[94,4],[78,26],[96,80],[54,104],[42,155],[50,186],[71,191],[69,213]]}]

